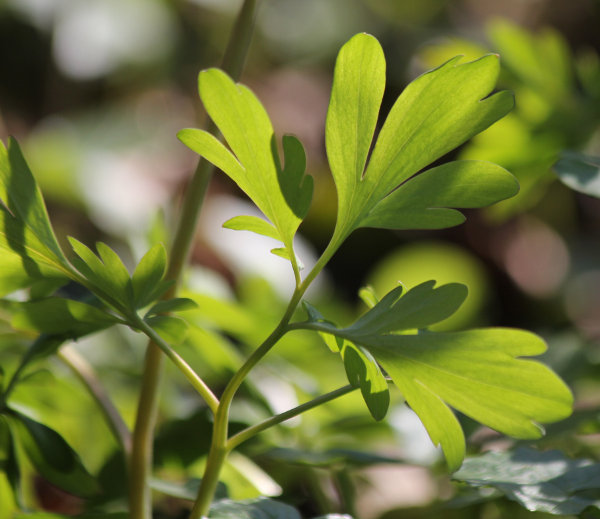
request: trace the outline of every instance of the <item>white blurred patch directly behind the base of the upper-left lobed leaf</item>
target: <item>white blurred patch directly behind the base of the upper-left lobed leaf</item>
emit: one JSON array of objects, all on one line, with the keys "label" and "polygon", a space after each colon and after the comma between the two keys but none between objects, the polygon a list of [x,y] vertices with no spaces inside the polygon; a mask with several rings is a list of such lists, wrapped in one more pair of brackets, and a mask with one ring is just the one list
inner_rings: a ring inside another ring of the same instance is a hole
[{"label": "white blurred patch directly behind the base of the upper-left lobed leaf", "polygon": [[[209,197],[200,220],[202,235],[233,272],[260,276],[269,281],[283,299],[289,298],[295,288],[290,262],[269,252],[281,247],[281,243],[253,232],[223,228],[223,223],[240,215],[263,217],[254,205],[239,198]],[[296,236],[294,249],[304,265],[303,272],[309,272],[316,263],[314,251],[301,236]],[[314,294],[318,286],[317,279],[309,291]]]}]

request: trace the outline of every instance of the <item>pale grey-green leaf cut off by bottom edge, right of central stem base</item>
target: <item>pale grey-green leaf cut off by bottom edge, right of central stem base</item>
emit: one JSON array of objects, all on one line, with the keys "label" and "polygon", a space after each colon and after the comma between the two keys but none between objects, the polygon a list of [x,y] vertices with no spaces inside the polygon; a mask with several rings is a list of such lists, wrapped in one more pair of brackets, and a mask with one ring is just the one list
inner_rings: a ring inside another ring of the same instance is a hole
[{"label": "pale grey-green leaf cut off by bottom edge, right of central stem base", "polygon": [[208,517],[211,519],[301,519],[295,508],[266,497],[244,501],[222,499],[213,503]]}]

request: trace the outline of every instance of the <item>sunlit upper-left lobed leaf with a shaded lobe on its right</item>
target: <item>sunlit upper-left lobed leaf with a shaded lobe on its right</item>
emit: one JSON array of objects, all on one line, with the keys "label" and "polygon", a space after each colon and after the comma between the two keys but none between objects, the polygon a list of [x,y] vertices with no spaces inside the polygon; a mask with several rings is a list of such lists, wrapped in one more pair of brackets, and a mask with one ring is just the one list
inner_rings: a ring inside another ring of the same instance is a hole
[{"label": "sunlit upper-left lobed leaf with a shaded lobe on its right", "polygon": [[198,86],[208,114],[231,151],[202,130],[182,130],[178,137],[223,170],[252,199],[294,259],[293,237],[306,215],[313,189],[312,179],[304,175],[302,145],[293,137],[283,139],[282,167],[271,121],[248,88],[217,69],[201,72]]}]

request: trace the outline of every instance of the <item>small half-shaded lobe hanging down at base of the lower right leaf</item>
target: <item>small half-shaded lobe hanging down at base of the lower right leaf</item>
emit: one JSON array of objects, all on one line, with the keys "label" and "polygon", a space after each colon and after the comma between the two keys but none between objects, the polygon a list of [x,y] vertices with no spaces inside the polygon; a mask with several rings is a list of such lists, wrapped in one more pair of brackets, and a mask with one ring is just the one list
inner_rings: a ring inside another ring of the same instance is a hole
[{"label": "small half-shaded lobe hanging down at base of the lower right leaf", "polygon": [[368,350],[344,341],[342,358],[348,381],[360,387],[362,397],[375,420],[383,420],[390,405],[390,392],[377,361]]}]

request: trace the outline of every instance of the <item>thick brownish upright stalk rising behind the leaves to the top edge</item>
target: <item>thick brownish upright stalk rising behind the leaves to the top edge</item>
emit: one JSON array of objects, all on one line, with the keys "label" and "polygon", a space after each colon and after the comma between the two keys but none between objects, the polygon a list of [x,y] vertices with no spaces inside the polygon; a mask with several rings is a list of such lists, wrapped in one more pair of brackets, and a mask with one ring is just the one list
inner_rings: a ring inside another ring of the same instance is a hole
[{"label": "thick brownish upright stalk rising behind the leaves to the top edge", "polygon": [[[257,0],[245,0],[223,58],[223,69],[234,79],[239,76],[252,37]],[[216,129],[210,129],[216,134]],[[212,167],[200,160],[183,201],[179,223],[169,256],[167,279],[175,281],[174,288],[166,297],[172,297],[177,290],[181,272],[188,261],[196,229],[196,221],[206,195],[212,174]],[[131,519],[151,519],[152,502],[148,484],[152,470],[152,447],[154,427],[158,409],[158,388],[163,371],[164,358],[154,343],[148,344],[144,361],[142,386],[138,402],[138,412],[133,431],[132,453],[129,462],[129,507]]]}]

